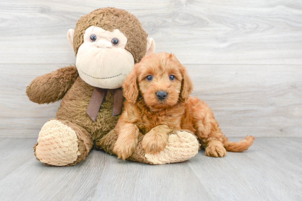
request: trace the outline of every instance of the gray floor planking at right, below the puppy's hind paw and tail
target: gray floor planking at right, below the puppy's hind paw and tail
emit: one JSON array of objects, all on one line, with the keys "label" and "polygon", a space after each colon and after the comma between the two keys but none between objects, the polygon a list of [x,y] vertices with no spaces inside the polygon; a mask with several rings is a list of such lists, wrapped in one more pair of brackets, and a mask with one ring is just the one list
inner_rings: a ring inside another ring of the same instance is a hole
[{"label": "gray floor planking at right, below the puppy's hind paw and tail", "polygon": [[200,151],[189,166],[214,200],[298,201],[301,145],[302,138],[257,138],[248,151],[227,152],[223,158],[206,157]]}]

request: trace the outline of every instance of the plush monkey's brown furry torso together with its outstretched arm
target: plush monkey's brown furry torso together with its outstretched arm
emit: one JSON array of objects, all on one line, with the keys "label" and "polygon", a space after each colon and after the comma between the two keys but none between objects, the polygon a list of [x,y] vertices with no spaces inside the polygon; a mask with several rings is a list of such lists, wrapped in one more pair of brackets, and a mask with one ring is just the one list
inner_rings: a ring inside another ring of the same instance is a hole
[{"label": "plush monkey's brown furry torso together with its outstretched arm", "polygon": [[69,125],[64,121],[84,128],[91,135],[91,140],[95,141],[114,128],[119,115],[112,116],[113,90],[109,89],[96,122],[93,122],[86,113],[93,90],[94,87],[78,76],[76,67],[69,66],[35,78],[27,87],[26,93],[31,101],[39,104],[55,102],[63,98],[56,119],[63,121],[67,126]]}]

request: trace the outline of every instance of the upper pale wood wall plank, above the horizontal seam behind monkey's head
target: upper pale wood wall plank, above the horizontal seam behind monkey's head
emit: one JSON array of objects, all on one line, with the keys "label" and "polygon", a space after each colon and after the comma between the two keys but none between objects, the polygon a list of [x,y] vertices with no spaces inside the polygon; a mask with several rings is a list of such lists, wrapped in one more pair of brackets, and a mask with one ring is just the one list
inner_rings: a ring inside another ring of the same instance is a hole
[{"label": "upper pale wood wall plank, above the horizontal seam behind monkey's head", "polygon": [[107,6],[135,14],[156,51],[175,52],[184,64],[302,63],[302,2],[294,0],[5,0],[0,63],[73,64],[67,30]]}]

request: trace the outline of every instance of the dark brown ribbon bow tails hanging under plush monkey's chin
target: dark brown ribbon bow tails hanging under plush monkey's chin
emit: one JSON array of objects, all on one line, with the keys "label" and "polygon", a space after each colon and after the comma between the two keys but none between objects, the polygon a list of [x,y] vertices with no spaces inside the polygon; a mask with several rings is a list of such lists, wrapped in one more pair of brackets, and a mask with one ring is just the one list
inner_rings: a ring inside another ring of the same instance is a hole
[{"label": "dark brown ribbon bow tails hanging under plush monkey's chin", "polygon": [[[92,121],[96,121],[97,114],[99,113],[100,107],[106,95],[107,89],[102,89],[95,87],[93,90],[93,94],[89,101],[86,113],[92,119]],[[117,88],[113,90],[114,100],[113,100],[113,111],[112,116],[116,116],[122,113],[122,105],[123,105],[123,90],[122,88]]]}]

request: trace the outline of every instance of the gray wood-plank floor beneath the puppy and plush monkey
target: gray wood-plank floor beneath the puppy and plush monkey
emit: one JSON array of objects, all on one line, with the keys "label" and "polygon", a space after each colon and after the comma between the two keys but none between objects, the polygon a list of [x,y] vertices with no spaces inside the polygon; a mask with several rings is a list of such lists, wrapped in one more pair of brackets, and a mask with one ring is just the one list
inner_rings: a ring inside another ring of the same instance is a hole
[{"label": "gray wood-plank floor beneath the puppy and plush monkey", "polygon": [[93,150],[71,167],[40,163],[35,141],[0,138],[0,200],[302,200],[302,138],[259,137],[243,153],[201,150],[165,165]]}]

